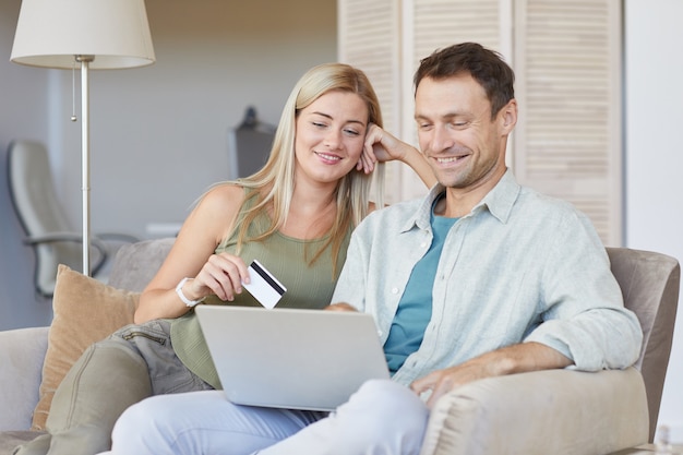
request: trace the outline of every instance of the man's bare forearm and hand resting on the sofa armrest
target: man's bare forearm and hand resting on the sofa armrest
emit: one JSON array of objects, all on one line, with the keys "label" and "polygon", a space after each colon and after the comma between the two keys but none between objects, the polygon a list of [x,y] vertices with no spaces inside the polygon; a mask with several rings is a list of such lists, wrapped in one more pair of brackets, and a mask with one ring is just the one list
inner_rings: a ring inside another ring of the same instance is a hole
[{"label": "man's bare forearm and hand resting on the sofa armrest", "polygon": [[432,394],[427,402],[427,406],[431,408],[441,396],[468,382],[528,371],[561,369],[571,364],[571,359],[553,348],[540,343],[522,343],[483,354],[455,367],[436,370],[415,381],[410,388],[418,395],[431,390]]}]

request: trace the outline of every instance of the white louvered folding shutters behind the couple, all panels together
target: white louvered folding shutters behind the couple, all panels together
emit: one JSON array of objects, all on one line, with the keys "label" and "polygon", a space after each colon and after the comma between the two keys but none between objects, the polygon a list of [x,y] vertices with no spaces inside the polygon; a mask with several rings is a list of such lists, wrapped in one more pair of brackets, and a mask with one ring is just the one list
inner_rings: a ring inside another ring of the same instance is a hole
[{"label": "white louvered folding shutters behind the couple, all panels together", "polygon": [[[515,70],[519,122],[508,165],[519,182],[588,214],[622,241],[621,3],[612,0],[338,0],[339,59],[367,71],[385,127],[417,144],[412,74],[460,41],[499,50]],[[424,194],[387,167],[387,202]]]}]

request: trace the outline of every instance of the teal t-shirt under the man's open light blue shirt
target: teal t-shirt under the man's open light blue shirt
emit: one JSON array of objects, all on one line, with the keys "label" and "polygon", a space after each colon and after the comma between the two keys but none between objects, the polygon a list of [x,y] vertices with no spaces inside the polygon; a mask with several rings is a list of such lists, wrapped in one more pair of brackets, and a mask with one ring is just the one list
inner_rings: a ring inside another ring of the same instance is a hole
[{"label": "teal t-shirt under the man's open light blue shirt", "polygon": [[388,338],[384,343],[384,355],[392,374],[398,371],[408,356],[418,350],[432,316],[432,288],[439,259],[448,230],[458,220],[434,215],[434,206],[440,200],[441,197],[436,197],[432,205],[432,244],[410,273]]}]

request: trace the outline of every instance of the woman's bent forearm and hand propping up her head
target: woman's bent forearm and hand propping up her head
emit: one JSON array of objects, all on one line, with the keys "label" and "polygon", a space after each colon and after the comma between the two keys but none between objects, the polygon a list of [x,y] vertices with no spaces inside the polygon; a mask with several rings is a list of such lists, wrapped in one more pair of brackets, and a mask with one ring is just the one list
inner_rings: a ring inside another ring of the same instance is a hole
[{"label": "woman's bent forearm and hand propping up her head", "polygon": [[436,177],[424,159],[424,155],[412,145],[399,141],[376,124],[371,124],[366,134],[366,145],[358,163],[358,170],[364,170],[369,173],[374,169],[375,161],[384,163],[393,159],[398,159],[410,166],[427,188],[432,188],[436,183]]}]

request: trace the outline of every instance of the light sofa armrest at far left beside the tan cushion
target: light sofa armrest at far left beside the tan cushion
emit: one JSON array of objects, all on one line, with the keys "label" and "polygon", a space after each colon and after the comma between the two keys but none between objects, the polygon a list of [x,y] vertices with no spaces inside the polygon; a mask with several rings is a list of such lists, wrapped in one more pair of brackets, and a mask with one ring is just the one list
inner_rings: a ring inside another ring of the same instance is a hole
[{"label": "light sofa armrest at far left beside the tan cushion", "polygon": [[0,332],[0,430],[28,430],[38,403],[48,327]]}]

